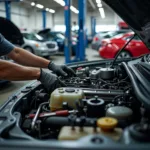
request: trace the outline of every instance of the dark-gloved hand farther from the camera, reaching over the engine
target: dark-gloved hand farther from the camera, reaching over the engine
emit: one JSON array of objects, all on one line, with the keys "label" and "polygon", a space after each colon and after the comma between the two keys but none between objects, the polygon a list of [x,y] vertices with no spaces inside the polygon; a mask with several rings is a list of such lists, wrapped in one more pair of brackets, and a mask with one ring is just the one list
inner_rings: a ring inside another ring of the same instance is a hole
[{"label": "dark-gloved hand farther from the camera, reaching over the engine", "polygon": [[53,62],[50,62],[48,69],[52,70],[58,76],[76,76],[75,72],[66,65],[56,65]]}]

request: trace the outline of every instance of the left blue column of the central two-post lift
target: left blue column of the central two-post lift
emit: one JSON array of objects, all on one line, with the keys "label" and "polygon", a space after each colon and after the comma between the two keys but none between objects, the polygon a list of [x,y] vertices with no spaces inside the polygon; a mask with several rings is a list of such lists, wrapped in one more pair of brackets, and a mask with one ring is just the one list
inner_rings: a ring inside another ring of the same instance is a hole
[{"label": "left blue column of the central two-post lift", "polygon": [[70,48],[71,48],[71,12],[70,12],[71,1],[65,0],[65,62],[70,62]]}]

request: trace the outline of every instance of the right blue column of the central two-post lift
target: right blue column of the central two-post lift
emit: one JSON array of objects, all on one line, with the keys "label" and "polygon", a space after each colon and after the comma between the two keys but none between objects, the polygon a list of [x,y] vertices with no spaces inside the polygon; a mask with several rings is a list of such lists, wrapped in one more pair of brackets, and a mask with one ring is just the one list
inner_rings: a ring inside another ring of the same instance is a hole
[{"label": "right blue column of the central two-post lift", "polygon": [[86,42],[86,29],[85,29],[85,18],[86,18],[86,0],[78,0],[79,5],[79,57],[80,61],[85,60],[85,42]]}]

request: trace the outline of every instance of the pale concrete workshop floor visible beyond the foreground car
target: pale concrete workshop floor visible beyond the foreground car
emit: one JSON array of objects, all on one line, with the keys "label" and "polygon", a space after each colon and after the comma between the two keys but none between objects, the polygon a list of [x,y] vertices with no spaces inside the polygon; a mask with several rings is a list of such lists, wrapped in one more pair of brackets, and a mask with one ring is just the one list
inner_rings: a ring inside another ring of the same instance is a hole
[{"label": "pale concrete workshop floor visible beyond the foreground car", "polygon": [[[88,59],[88,61],[101,59],[98,55],[98,52],[92,50],[91,48],[87,48],[86,58]],[[51,56],[50,60],[52,60],[53,62],[57,64],[63,64],[65,62],[65,58],[63,54]],[[27,83],[29,83],[29,81],[11,82],[7,86],[0,89],[0,104],[6,101],[8,97],[10,97],[13,93],[15,93],[18,89],[20,89]]]}]

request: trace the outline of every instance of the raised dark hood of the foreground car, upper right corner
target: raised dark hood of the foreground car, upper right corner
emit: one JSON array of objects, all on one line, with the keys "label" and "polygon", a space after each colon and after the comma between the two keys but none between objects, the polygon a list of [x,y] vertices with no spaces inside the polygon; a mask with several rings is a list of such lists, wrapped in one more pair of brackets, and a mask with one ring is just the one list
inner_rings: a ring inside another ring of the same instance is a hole
[{"label": "raised dark hood of the foreground car, upper right corner", "polygon": [[149,0],[103,0],[141,38],[150,49],[150,1]]}]

